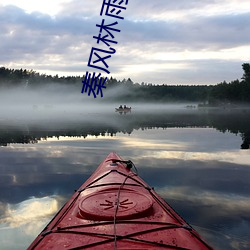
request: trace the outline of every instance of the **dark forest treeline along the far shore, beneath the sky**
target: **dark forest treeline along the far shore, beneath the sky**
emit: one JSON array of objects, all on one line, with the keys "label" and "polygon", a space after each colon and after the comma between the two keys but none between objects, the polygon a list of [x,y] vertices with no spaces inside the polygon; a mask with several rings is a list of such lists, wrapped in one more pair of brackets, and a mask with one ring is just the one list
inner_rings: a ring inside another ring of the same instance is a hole
[{"label": "dark forest treeline along the far shore, beneath the sky", "polygon": [[[106,81],[105,93],[109,100],[131,101],[190,101],[208,105],[224,105],[232,103],[250,103],[250,64],[242,64],[243,76],[240,80],[222,82],[216,85],[154,85],[152,83],[134,83],[130,78],[117,80],[110,77]],[[57,83],[82,89],[83,76],[51,76],[40,74],[34,70],[8,69],[0,67],[0,87],[36,88]],[[120,91],[119,91],[120,90]]]}]

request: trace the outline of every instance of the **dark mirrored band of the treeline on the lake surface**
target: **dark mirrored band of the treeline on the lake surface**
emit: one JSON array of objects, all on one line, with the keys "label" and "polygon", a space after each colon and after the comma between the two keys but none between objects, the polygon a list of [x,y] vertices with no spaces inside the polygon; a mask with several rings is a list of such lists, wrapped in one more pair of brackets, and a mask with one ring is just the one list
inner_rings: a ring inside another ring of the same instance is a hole
[{"label": "dark mirrored band of the treeline on the lake surface", "polygon": [[[243,140],[242,149],[248,149],[250,145],[250,111],[240,110],[191,110],[183,112],[147,112],[132,113],[129,116],[112,114],[99,118],[99,122],[74,122],[72,124],[52,123],[46,124],[47,129],[39,126],[27,126],[26,128],[0,127],[0,145],[7,146],[10,143],[37,143],[40,139],[60,136],[83,137],[88,135],[114,136],[117,133],[131,134],[138,129],[174,128],[174,127],[211,127],[221,132],[229,131],[240,134]],[[108,118],[110,122],[100,121]]]}]

